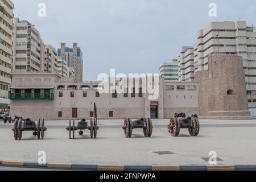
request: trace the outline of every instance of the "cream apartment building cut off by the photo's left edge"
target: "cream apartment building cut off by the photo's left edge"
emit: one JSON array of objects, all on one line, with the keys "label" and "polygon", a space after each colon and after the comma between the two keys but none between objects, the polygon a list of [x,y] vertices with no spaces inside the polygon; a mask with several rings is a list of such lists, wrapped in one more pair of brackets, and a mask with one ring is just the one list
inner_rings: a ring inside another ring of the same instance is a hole
[{"label": "cream apartment building cut off by the photo's left edge", "polygon": [[8,98],[13,57],[13,9],[10,0],[0,0],[0,104]]}]

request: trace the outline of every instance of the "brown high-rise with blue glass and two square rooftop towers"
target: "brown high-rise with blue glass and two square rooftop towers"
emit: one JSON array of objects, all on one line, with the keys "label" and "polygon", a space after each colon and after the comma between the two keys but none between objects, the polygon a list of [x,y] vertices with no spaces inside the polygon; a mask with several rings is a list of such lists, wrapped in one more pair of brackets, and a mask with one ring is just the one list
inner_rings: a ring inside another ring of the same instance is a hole
[{"label": "brown high-rise with blue glass and two square rooftop towers", "polygon": [[77,47],[77,43],[73,43],[73,48],[68,48],[65,43],[61,43],[58,56],[67,62],[68,67],[74,69],[76,81],[82,81],[82,51]]}]

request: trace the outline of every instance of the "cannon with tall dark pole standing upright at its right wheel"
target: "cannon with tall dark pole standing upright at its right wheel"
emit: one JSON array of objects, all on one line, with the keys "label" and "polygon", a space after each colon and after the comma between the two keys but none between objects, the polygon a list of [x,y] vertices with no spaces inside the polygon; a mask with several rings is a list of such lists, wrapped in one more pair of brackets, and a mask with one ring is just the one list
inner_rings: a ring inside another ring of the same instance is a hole
[{"label": "cannon with tall dark pole standing upright at its right wheel", "polygon": [[81,121],[77,123],[77,126],[75,126],[75,119],[73,119],[72,125],[71,120],[69,120],[69,126],[66,127],[66,130],[69,131],[69,139],[75,139],[75,131],[78,130],[79,135],[83,135],[86,129],[90,131],[90,138],[97,138],[97,130],[100,128],[97,126],[97,107],[95,103],[94,118],[90,118],[90,126],[88,126],[86,119],[81,119]]}]

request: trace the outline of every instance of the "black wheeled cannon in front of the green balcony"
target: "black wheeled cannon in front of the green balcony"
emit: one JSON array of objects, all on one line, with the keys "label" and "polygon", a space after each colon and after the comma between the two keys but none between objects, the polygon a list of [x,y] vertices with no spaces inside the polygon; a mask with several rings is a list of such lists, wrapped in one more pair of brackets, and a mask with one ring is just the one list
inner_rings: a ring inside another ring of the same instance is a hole
[{"label": "black wheeled cannon in front of the green balcony", "polygon": [[44,139],[44,131],[47,127],[44,125],[44,119],[39,119],[37,122],[30,118],[23,119],[22,117],[16,117],[14,121],[13,133],[15,140],[22,139],[23,131],[32,131],[32,135],[37,136],[38,139]]}]

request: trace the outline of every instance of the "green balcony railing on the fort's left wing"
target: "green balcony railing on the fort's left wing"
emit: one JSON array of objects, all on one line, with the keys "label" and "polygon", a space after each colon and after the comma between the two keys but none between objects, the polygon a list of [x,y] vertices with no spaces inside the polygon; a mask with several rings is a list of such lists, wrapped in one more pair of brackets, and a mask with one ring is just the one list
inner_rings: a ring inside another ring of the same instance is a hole
[{"label": "green balcony railing on the fort's left wing", "polygon": [[11,93],[10,100],[53,100],[54,93]]}]

